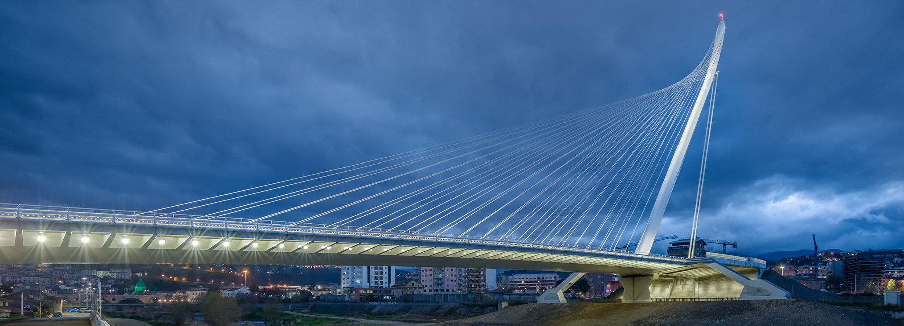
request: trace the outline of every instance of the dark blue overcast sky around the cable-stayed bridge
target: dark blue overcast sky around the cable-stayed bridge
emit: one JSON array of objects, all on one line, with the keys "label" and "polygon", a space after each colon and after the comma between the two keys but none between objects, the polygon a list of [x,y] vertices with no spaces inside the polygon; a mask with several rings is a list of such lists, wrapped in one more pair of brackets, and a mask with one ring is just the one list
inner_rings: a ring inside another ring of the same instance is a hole
[{"label": "dark blue overcast sky around the cable-stayed bridge", "polygon": [[633,98],[719,13],[699,235],[904,247],[897,0],[4,1],[0,201],[153,210]]}]

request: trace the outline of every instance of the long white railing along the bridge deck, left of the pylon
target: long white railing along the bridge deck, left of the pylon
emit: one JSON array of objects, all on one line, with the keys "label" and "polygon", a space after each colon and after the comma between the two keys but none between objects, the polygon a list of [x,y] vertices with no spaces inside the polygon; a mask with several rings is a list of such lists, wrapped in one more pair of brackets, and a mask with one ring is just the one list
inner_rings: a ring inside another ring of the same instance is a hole
[{"label": "long white railing along the bridge deck, left of the pylon", "polygon": [[572,252],[626,256],[631,258],[655,258],[683,263],[683,257],[666,255],[640,255],[633,252],[599,247],[557,244],[510,238],[491,238],[448,233],[400,230],[393,228],[363,228],[315,223],[295,223],[281,220],[239,219],[188,214],[159,214],[130,210],[99,210],[59,206],[0,203],[0,219],[51,219],[80,222],[130,224],[173,228],[211,228],[237,231],[263,231],[269,233],[336,235],[359,238],[391,238],[404,240],[466,243],[488,246],[527,247],[536,249],[567,250]]}]

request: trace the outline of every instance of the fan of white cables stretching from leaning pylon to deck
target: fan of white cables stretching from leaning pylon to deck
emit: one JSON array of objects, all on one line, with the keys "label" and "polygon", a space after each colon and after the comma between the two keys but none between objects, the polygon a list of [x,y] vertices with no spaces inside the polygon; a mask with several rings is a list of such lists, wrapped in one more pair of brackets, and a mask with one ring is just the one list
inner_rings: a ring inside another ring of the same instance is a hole
[{"label": "fan of white cables stretching from leaning pylon to deck", "polygon": [[612,249],[643,230],[716,45],[636,98],[150,212]]}]

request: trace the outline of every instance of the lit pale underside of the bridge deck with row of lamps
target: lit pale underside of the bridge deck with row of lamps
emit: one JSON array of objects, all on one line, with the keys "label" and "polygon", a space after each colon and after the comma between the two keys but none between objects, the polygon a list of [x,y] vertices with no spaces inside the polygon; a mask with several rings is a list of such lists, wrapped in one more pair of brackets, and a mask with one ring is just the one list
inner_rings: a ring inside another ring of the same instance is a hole
[{"label": "lit pale underside of the bridge deck with row of lamps", "polygon": [[[227,231],[0,221],[0,264],[406,265],[649,274],[683,259],[562,248]],[[12,249],[12,250],[10,250]]]}]

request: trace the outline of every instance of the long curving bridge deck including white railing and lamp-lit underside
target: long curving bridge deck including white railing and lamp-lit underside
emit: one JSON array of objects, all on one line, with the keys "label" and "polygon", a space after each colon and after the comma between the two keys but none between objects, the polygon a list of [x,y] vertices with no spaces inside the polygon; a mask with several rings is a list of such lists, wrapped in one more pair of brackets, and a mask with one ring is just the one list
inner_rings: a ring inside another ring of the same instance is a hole
[{"label": "long curving bridge deck including white railing and lamp-lit underside", "polygon": [[139,214],[0,204],[0,247],[19,248],[0,251],[0,264],[471,266],[620,275],[687,265],[675,256],[496,238]]}]

